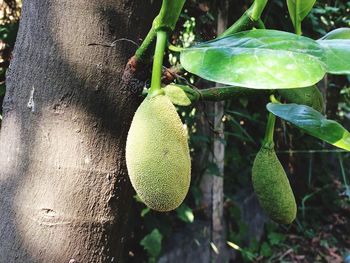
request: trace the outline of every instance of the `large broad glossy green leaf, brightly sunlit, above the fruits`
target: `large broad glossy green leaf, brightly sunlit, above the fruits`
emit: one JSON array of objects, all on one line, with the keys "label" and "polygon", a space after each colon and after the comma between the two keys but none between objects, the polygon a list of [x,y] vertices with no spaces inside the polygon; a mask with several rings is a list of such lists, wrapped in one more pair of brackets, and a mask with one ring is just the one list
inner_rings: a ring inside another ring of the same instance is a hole
[{"label": "large broad glossy green leaf, brightly sunlit, above the fruits", "polygon": [[311,86],[326,73],[320,45],[295,34],[257,29],[181,52],[182,66],[200,77],[253,89]]}]

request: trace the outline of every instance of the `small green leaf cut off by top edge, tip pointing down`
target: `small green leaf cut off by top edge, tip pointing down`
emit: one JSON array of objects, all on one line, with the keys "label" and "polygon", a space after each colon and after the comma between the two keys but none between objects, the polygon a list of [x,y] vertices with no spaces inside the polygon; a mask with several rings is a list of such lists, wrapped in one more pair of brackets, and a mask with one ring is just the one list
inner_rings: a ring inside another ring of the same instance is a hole
[{"label": "small green leaf cut off by top edge, tip pointing down", "polygon": [[294,26],[300,23],[311,11],[316,0],[287,0],[287,6],[290,18]]}]

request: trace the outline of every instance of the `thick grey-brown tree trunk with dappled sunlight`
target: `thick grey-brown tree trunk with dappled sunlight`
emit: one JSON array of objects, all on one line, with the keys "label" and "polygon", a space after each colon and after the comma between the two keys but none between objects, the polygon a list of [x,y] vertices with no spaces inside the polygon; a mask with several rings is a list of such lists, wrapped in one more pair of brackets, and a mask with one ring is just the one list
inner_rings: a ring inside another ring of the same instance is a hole
[{"label": "thick grey-brown tree trunk with dappled sunlight", "polygon": [[126,135],[143,86],[123,75],[151,0],[25,0],[0,134],[1,262],[121,262]]}]

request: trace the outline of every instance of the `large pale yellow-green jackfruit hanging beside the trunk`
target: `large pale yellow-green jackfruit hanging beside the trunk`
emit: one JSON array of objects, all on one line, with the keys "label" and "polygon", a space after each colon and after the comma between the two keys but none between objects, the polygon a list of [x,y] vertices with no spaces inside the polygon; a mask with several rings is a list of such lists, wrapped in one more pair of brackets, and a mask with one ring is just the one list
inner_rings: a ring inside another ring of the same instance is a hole
[{"label": "large pale yellow-green jackfruit hanging beside the trunk", "polygon": [[132,186],[148,207],[165,212],[183,202],[191,177],[187,134],[166,96],[148,96],[137,109],[126,164]]}]

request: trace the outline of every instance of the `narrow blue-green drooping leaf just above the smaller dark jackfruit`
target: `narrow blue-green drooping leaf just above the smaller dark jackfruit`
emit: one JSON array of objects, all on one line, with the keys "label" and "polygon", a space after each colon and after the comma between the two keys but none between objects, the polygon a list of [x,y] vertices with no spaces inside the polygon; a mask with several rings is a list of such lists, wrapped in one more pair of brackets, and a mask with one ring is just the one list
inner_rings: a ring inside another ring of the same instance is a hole
[{"label": "narrow blue-green drooping leaf just above the smaller dark jackfruit", "polygon": [[269,103],[266,108],[306,133],[350,151],[350,133],[336,121],[327,120],[318,111],[298,104]]}]

